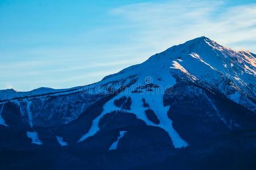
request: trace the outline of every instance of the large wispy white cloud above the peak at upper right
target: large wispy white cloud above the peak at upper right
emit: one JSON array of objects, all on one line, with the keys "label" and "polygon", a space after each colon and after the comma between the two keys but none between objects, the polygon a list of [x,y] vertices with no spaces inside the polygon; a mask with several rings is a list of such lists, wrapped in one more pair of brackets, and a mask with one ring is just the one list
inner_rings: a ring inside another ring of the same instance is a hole
[{"label": "large wispy white cloud above the peak at upper right", "polygon": [[138,42],[163,49],[177,42],[208,36],[233,48],[256,52],[256,3],[225,6],[222,1],[167,1],[137,3],[110,11],[134,27]]}]

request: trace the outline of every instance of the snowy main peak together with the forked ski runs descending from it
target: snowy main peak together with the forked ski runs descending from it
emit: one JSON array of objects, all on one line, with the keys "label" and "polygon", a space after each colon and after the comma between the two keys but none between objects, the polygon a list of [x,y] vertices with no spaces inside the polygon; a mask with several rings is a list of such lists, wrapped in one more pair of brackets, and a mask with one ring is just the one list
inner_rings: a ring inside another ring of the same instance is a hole
[{"label": "snowy main peak together with the forked ski runs descending from it", "polygon": [[[137,82],[104,105],[104,111],[93,120],[92,127],[79,142],[100,130],[98,122],[106,113],[120,110],[114,105],[114,100],[127,96],[132,101],[131,109],[127,112],[136,114],[137,118],[147,125],[166,130],[176,148],[188,146],[189,143],[172,128],[172,121],[167,117],[168,107],[163,105],[164,92],[180,79],[218,91],[252,111],[256,108],[255,55],[225,48],[207,37],[199,37],[185,44],[173,46],[160,54],[155,54],[140,65],[106,76],[102,82],[128,78],[131,75],[137,77]],[[143,88],[147,84],[154,84],[155,87],[147,91],[147,88]],[[146,117],[144,112],[147,108],[143,107],[143,98],[160,121],[158,125]]]}]

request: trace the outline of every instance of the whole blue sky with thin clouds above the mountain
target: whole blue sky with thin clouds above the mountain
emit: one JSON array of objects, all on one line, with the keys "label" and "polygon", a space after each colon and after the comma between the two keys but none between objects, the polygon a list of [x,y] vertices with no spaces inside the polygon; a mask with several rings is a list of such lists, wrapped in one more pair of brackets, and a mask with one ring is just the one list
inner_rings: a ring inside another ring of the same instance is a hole
[{"label": "whole blue sky with thin clouds above the mountain", "polygon": [[0,1],[0,89],[68,88],[199,36],[256,52],[254,1]]}]

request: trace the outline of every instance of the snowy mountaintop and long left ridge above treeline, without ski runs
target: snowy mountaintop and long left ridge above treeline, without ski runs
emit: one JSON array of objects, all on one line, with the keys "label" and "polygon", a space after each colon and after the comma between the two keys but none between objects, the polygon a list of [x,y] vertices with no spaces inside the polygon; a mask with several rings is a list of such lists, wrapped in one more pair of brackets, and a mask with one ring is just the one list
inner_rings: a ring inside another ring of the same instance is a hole
[{"label": "snowy mountaintop and long left ridge above treeline, without ski runs", "polygon": [[[208,86],[237,103],[255,109],[255,57],[253,53],[232,50],[203,36],[172,46],[141,64],[105,76],[100,82],[85,87],[90,89],[88,93],[95,94],[98,86],[112,86],[117,90],[135,81],[141,86],[148,83],[145,79],[149,77],[150,82],[167,87],[173,86],[176,80],[181,78]],[[0,99],[10,100],[15,97],[63,92],[68,94],[69,91],[79,91],[79,88],[54,90],[43,87],[30,92],[0,91]]]}]

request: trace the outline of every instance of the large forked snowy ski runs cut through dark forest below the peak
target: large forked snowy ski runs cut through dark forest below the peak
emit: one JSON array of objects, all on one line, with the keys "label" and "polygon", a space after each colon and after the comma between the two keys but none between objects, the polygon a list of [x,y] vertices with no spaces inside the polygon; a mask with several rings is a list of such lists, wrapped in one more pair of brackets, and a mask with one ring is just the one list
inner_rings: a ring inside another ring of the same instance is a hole
[{"label": "large forked snowy ski runs cut through dark forest below the peak", "polygon": [[[145,84],[144,79],[148,77],[146,75],[142,74],[141,78],[138,79],[137,83],[141,85]],[[175,83],[175,80],[170,73],[162,74],[162,76],[164,75],[167,76],[167,78],[165,78],[166,81],[163,81],[163,82],[159,81],[158,83],[161,85],[160,87],[164,88],[165,90],[166,87],[173,85]],[[156,75],[151,75],[150,77],[152,78],[152,80],[157,80]],[[103,117],[106,113],[121,110],[120,108],[114,105],[115,99],[119,99],[122,96],[127,96],[127,97],[131,97],[131,109],[130,111],[125,110],[126,112],[135,114],[138,119],[143,120],[144,122],[146,122],[147,125],[158,126],[159,128],[166,130],[167,133],[170,135],[172,144],[174,145],[175,148],[187,147],[188,143],[185,142],[180,137],[180,135],[177,133],[176,130],[174,130],[174,128],[172,128],[172,121],[170,120],[170,118],[168,118],[168,115],[167,115],[169,106],[164,107],[163,105],[164,90],[163,89],[159,90],[158,88],[158,89],[154,89],[153,92],[144,91],[142,94],[133,94],[131,93],[131,91],[133,90],[134,90],[133,87],[129,87],[127,91],[123,91],[121,92],[121,94],[118,94],[117,96],[115,96],[112,100],[109,100],[103,107],[104,111],[100,114],[100,116],[98,116],[93,120],[91,128],[86,134],[84,134],[79,139],[79,142],[84,141],[88,137],[92,137],[94,134],[96,134],[100,130],[100,128],[98,127],[98,122],[100,121],[100,118]],[[142,98],[146,99],[147,103],[150,105],[150,108],[155,112],[156,116],[158,117],[160,124],[156,125],[154,124],[154,122],[151,122],[150,120],[148,120],[146,114],[144,113],[144,111],[148,108],[143,107]]]}]

